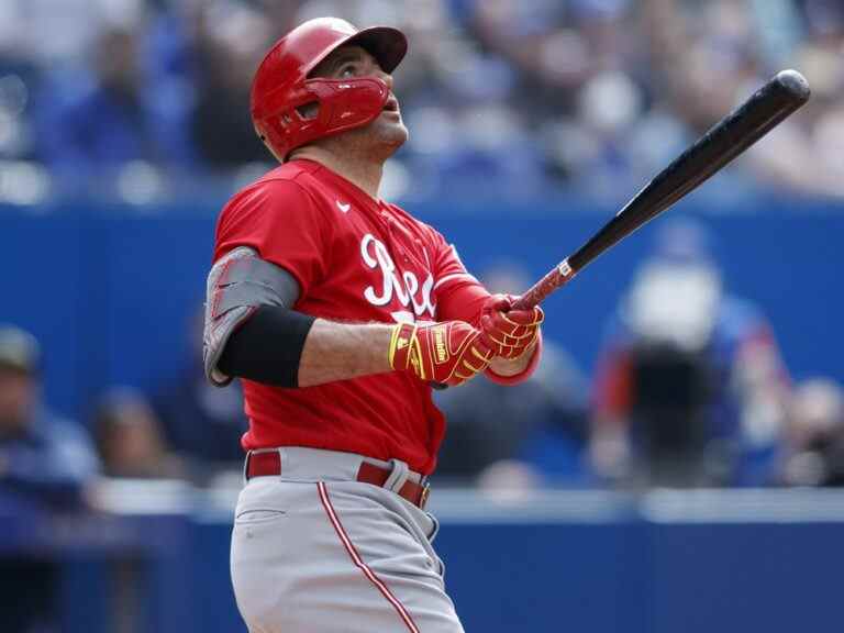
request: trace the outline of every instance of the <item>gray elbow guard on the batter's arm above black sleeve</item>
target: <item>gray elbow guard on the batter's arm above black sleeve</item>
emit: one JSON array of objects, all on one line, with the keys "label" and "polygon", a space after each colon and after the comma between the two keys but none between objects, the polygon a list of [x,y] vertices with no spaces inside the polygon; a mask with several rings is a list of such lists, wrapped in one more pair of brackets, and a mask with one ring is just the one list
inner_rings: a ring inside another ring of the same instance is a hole
[{"label": "gray elbow guard on the batter's arm above black sleeve", "polygon": [[299,285],[284,268],[240,246],[221,257],[208,274],[202,356],[206,377],[216,387],[232,381],[216,368],[232,333],[259,306],[290,308],[299,298]]}]

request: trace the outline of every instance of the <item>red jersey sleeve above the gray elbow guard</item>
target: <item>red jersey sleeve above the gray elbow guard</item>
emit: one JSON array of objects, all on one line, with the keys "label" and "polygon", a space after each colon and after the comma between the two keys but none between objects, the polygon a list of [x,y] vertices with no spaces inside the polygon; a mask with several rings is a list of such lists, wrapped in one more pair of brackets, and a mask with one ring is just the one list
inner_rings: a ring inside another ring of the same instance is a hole
[{"label": "red jersey sleeve above the gray elbow guard", "polygon": [[237,193],[223,209],[214,260],[237,246],[249,246],[262,259],[289,271],[304,295],[327,270],[331,227],[301,186],[289,180],[259,182]]}]

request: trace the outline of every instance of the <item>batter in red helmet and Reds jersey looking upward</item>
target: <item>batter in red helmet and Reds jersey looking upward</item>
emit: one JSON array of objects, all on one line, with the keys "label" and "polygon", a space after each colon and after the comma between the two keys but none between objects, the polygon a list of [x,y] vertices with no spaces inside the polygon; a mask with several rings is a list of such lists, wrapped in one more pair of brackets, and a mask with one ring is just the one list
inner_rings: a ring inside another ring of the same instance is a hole
[{"label": "batter in red helmet and Reds jersey looking upward", "polygon": [[252,632],[463,631],[424,511],[444,420],[432,385],[509,385],[542,311],[490,296],[431,226],[378,197],[408,138],[395,29],[333,18],[279,40],[252,116],[281,164],[216,226],[206,370],[249,430],[231,569]]}]

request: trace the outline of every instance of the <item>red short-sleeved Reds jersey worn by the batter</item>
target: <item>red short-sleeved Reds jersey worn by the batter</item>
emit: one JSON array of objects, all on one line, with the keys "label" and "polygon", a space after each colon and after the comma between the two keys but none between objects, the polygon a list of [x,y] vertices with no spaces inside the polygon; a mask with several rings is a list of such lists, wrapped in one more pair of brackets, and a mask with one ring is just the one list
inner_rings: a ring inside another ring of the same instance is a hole
[{"label": "red short-sleeved Reds jersey worn by the batter", "polygon": [[[434,229],[310,160],[286,163],[229,201],[214,260],[237,246],[297,279],[295,310],[331,321],[435,321],[438,299],[479,287]],[[402,459],[423,474],[436,464],[445,421],[431,388],[410,374],[297,389],[243,380],[243,391],[246,449],[343,451]]]}]

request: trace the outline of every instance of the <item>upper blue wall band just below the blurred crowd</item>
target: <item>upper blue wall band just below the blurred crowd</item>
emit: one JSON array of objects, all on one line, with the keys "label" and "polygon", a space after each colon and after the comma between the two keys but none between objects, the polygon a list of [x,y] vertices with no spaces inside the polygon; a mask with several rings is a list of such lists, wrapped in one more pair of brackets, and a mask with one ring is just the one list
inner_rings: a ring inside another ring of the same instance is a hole
[{"label": "upper blue wall band just below the blurred crowd", "polygon": [[[545,208],[408,207],[456,243],[470,269],[504,257],[534,276],[613,213],[571,200]],[[23,325],[42,340],[52,406],[85,417],[106,386],[153,390],[179,371],[190,316],[203,300],[216,211],[209,204],[0,208],[0,322]],[[717,212],[692,200],[671,211],[697,216],[711,230],[728,290],[767,314],[796,378],[844,380],[842,211],[776,200]],[[587,373],[608,315],[652,247],[654,224],[547,301],[547,335]]]}]

